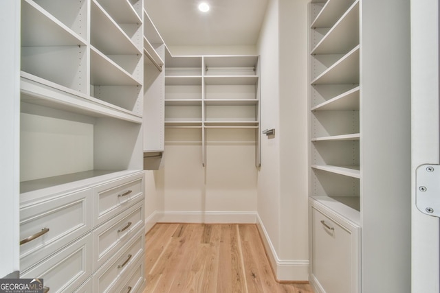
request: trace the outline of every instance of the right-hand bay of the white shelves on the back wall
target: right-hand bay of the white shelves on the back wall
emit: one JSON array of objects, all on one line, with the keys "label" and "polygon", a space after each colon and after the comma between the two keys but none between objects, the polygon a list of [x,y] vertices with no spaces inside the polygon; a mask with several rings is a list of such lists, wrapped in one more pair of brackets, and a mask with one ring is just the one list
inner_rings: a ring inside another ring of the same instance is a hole
[{"label": "right-hand bay of the white shelves on the back wall", "polygon": [[260,167],[259,56],[203,56],[203,69],[204,154],[210,129],[254,129],[255,165]]}]

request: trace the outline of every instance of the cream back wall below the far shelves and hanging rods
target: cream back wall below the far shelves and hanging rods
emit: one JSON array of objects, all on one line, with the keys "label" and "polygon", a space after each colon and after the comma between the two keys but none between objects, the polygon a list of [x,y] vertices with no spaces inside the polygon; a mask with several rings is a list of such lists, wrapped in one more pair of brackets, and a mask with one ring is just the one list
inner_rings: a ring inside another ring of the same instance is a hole
[{"label": "cream back wall below the far shelves and hanging rods", "polygon": [[[146,172],[147,228],[153,222],[255,222],[253,129],[166,128],[162,167]],[[152,208],[154,207],[154,208]]]}]

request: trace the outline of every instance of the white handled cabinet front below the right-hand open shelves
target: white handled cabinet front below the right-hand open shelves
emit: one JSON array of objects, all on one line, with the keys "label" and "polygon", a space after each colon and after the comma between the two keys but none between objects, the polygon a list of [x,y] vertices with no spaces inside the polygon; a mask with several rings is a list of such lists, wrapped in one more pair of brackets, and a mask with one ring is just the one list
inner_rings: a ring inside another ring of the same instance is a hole
[{"label": "white handled cabinet front below the right-hand open shelves", "polygon": [[327,293],[352,293],[351,233],[312,208],[312,273]]}]

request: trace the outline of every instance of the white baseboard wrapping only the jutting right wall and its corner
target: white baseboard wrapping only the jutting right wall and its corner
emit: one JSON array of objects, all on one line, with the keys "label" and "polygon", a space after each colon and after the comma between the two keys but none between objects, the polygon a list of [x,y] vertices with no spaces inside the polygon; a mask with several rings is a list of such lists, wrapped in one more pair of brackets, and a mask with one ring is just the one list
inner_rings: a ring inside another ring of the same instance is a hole
[{"label": "white baseboard wrapping only the jutting right wall and its corner", "polygon": [[269,257],[270,264],[278,281],[308,281],[309,261],[308,260],[283,260],[276,255],[276,250],[270,241],[261,218],[257,214],[257,225],[263,244]]}]

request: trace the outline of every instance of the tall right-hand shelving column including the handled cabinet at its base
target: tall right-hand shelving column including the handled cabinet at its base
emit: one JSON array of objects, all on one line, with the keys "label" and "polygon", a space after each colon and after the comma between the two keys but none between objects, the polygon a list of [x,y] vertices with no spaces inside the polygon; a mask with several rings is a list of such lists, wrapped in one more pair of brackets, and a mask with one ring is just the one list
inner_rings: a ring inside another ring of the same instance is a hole
[{"label": "tall right-hand shelving column including the handled cabinet at its base", "polygon": [[360,1],[312,0],[309,13],[309,279],[360,292]]}]

